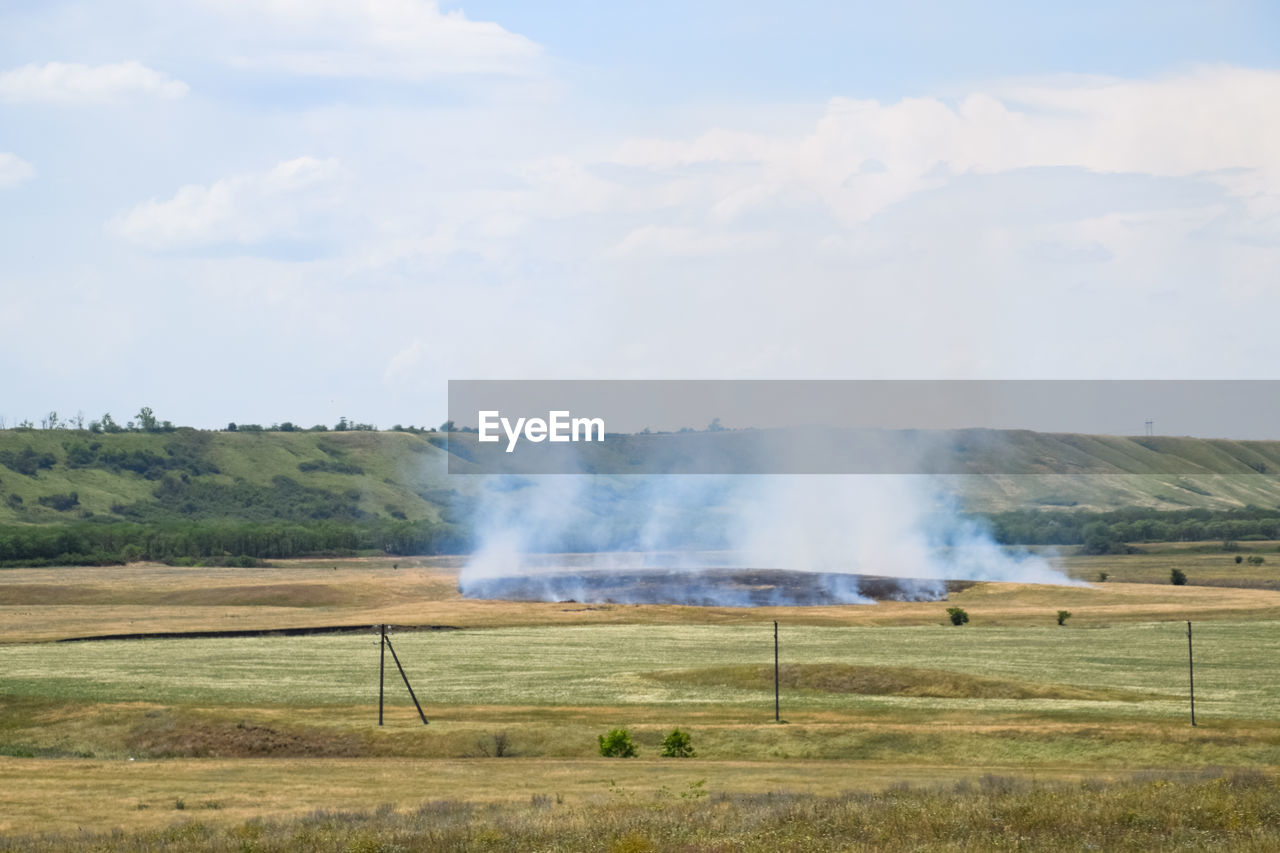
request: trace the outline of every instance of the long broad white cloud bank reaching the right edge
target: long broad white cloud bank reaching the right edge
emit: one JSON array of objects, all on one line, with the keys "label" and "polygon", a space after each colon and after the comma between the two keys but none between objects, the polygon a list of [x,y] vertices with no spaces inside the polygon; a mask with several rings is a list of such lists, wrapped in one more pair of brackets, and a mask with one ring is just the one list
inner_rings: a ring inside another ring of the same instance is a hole
[{"label": "long broad white cloud bank reaching the right edge", "polygon": [[[1212,179],[1252,197],[1280,192],[1275,104],[1280,73],[1217,67],[1158,79],[1005,85],[954,105],[837,97],[796,136],[712,129],[687,141],[631,140],[611,160],[672,181],[687,181],[692,168],[735,167],[737,183],[712,205],[718,222],[768,206],[790,188],[817,193],[854,227],[952,175],[1033,167],[1222,173]],[[703,178],[713,181],[723,178]]]}]

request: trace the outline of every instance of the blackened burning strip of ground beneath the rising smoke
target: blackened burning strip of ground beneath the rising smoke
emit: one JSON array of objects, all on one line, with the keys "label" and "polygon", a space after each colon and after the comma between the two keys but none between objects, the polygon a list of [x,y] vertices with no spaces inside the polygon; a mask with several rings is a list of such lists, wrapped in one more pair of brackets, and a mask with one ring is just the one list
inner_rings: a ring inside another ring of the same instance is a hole
[{"label": "blackened burning strip of ground beneath the rising smoke", "polygon": [[941,601],[942,580],[781,569],[575,569],[472,578],[467,598],[699,607],[814,607]]}]

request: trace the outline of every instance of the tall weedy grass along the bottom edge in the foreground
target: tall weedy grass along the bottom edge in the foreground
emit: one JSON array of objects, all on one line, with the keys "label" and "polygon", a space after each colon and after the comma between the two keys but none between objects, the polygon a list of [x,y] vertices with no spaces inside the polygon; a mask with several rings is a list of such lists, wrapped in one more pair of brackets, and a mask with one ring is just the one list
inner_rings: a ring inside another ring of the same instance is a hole
[{"label": "tall weedy grass along the bottom edge in the foreground", "polygon": [[0,839],[14,852],[93,850],[1275,850],[1280,790],[1261,774],[1030,784],[986,776],[879,794],[705,795],[698,783],[637,798],[429,802],[291,820]]}]

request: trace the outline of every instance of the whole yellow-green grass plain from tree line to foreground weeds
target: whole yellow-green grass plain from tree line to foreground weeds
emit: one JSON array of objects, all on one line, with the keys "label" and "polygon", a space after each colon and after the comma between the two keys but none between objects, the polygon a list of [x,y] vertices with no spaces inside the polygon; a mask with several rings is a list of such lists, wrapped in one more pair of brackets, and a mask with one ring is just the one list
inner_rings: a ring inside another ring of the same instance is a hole
[{"label": "whole yellow-green grass plain from tree line to foreground weeds", "polygon": [[[116,827],[125,833],[116,849],[141,845],[137,833],[160,833],[146,836],[156,849],[239,849],[244,831],[275,839],[260,849],[291,849],[315,830],[308,813],[334,808],[366,809],[348,822],[380,827],[383,840],[421,840],[421,829],[406,829],[417,826],[411,816],[444,800],[467,818],[440,849],[536,847],[556,809],[570,809],[567,824],[594,815],[617,825],[611,844],[621,844],[626,826],[663,803],[714,824],[746,808],[741,798],[778,792],[813,798],[806,808],[826,803],[832,820],[851,813],[856,792],[904,785],[965,812],[966,786],[980,790],[992,774],[1065,785],[1053,797],[1083,803],[1112,783],[1115,798],[1139,802],[1134,792],[1152,780],[1189,792],[1261,772],[1270,783],[1245,785],[1248,797],[1280,815],[1280,592],[1258,588],[1271,562],[1188,551],[1073,557],[1066,567],[1110,579],[975,584],[946,603],[748,610],[470,601],[457,593],[454,558],[0,571],[0,849],[59,849],[82,830]],[[1155,583],[1170,567],[1190,585]],[[1251,587],[1196,585],[1201,578]],[[952,605],[969,625],[950,625]],[[1071,611],[1066,625],[1059,610]],[[1194,729],[1187,620],[1197,622]],[[374,622],[402,626],[393,642],[429,726],[389,658],[388,725],[376,725]],[[357,630],[56,642],[307,626]],[[457,630],[426,630],[445,628]],[[631,731],[639,758],[598,754],[596,735],[617,726]],[[659,757],[676,726],[691,733],[695,758]],[[1176,776],[1188,770],[1199,776]],[[1135,772],[1147,776],[1134,783]],[[479,844],[479,827],[500,822],[493,808],[524,829]],[[1152,827],[1178,822],[1148,817]],[[187,835],[164,835],[174,825]],[[662,839],[703,849],[682,831],[655,825],[640,835],[657,847],[618,849],[660,849]],[[1224,849],[1271,839],[1213,831],[1192,838]],[[109,836],[78,838],[109,849]],[[1133,835],[1147,849],[1172,838]],[[360,849],[356,835],[334,839],[333,849]],[[1047,839],[1024,847],[1051,849]],[[945,836],[919,840],[945,847]]]}]

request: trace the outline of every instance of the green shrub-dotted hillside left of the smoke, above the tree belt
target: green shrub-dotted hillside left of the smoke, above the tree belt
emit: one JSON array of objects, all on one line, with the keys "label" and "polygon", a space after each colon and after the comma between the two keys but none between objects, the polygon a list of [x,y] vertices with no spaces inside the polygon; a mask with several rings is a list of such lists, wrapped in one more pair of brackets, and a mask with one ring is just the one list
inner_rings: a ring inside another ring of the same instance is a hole
[{"label": "green shrub-dotted hillside left of the smoke, above the tree belt", "polygon": [[444,469],[410,433],[0,430],[0,523],[442,521]]}]

